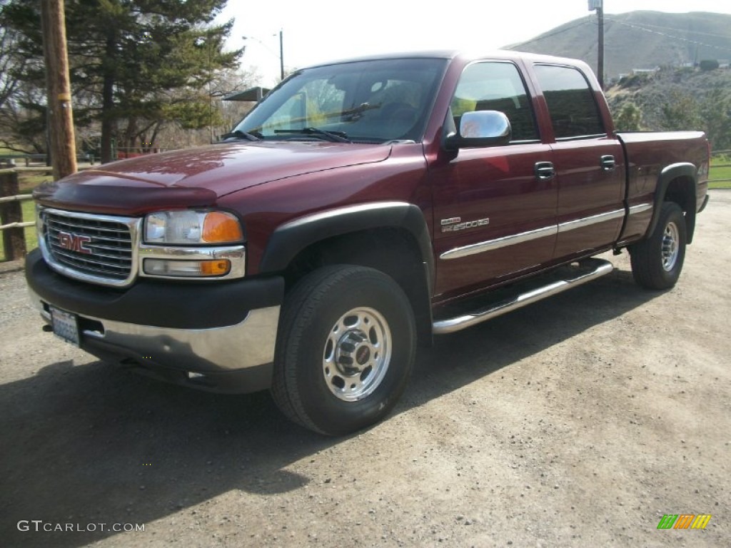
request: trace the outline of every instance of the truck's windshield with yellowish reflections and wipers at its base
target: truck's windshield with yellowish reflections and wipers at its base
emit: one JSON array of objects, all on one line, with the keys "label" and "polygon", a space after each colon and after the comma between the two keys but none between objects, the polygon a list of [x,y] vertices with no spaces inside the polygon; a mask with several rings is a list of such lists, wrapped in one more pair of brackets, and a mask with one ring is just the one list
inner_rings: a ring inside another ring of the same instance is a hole
[{"label": "truck's windshield with yellowish reflections and wipers at its base", "polygon": [[444,59],[357,61],[304,69],[235,127],[262,139],[420,141]]}]

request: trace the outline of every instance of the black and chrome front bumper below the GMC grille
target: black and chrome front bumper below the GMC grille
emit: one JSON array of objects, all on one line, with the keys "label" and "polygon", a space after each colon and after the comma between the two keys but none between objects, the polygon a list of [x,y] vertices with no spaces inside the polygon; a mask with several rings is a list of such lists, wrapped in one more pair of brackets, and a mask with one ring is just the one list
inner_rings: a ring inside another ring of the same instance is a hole
[{"label": "black and chrome front bumper below the GMC grille", "polygon": [[175,384],[255,392],[271,383],[284,280],[173,283],[140,280],[125,291],[65,278],[39,251],[26,258],[31,301],[78,318],[79,346]]}]

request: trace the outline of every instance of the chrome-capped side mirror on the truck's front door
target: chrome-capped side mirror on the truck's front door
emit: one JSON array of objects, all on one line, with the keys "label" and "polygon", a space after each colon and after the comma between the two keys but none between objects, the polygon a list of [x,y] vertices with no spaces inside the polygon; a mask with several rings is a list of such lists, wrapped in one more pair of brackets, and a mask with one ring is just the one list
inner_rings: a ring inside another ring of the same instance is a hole
[{"label": "chrome-capped side mirror on the truck's front door", "polygon": [[462,115],[458,131],[450,132],[444,138],[444,147],[448,151],[456,151],[460,148],[507,145],[511,135],[510,120],[504,113],[476,110]]}]

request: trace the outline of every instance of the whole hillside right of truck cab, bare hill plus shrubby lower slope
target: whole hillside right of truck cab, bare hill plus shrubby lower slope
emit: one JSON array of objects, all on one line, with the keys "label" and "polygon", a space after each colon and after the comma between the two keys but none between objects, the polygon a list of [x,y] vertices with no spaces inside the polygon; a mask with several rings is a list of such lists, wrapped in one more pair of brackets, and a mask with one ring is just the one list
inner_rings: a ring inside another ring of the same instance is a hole
[{"label": "whole hillside right of truck cab, bare hill plus shrubby lower slope", "polygon": [[[596,70],[596,42],[597,18],[591,14],[509,49],[580,58]],[[621,129],[702,129],[716,150],[731,148],[731,69],[693,68],[707,60],[721,67],[731,60],[731,15],[605,15],[607,99],[616,120],[627,105],[640,114],[634,127]],[[656,72],[633,74],[635,69]]]}]

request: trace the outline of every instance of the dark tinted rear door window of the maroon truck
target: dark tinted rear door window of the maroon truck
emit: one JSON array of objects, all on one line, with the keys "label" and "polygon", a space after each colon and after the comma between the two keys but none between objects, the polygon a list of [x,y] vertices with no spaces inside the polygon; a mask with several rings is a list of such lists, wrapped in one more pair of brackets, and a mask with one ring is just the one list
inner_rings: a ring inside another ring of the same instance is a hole
[{"label": "dark tinted rear door window of the maroon truck", "polygon": [[594,91],[572,66],[536,65],[556,139],[605,135]]}]

